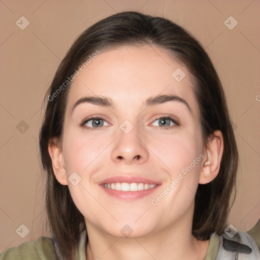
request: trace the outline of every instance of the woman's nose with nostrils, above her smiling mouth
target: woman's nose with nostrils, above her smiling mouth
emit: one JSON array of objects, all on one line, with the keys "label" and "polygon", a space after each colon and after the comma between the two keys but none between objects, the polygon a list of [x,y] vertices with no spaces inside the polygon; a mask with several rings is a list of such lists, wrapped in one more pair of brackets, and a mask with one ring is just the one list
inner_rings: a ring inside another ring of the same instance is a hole
[{"label": "woman's nose with nostrils, above her smiling mouth", "polygon": [[148,148],[137,127],[134,127],[127,134],[119,129],[118,135],[111,152],[111,159],[115,163],[130,165],[143,164],[147,161],[149,157]]}]

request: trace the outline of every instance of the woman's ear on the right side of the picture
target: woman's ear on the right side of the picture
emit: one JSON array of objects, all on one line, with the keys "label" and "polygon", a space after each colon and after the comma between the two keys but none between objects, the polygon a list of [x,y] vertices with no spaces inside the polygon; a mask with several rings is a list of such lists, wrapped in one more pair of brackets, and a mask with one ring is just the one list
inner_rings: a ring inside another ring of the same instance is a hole
[{"label": "woman's ear on the right side of the picture", "polygon": [[200,173],[200,184],[211,182],[219,172],[221,158],[224,150],[222,133],[217,130],[208,139],[206,156]]}]

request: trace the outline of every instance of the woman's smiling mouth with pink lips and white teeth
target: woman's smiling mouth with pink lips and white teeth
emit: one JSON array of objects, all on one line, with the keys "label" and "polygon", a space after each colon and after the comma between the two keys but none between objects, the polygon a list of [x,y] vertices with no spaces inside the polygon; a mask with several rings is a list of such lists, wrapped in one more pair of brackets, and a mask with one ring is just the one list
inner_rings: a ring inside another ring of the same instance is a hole
[{"label": "woman's smiling mouth with pink lips and white teeth", "polygon": [[124,201],[144,198],[154,192],[160,183],[141,177],[119,176],[104,180],[100,187],[109,195]]}]

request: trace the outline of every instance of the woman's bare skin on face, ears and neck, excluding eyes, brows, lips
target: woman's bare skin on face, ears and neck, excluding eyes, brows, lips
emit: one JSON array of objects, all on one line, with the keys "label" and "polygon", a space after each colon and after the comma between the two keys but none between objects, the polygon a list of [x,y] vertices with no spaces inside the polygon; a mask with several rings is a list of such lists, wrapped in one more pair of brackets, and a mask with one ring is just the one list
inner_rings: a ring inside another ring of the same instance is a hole
[{"label": "woman's bare skin on face, ears and neck, excluding eyes, brows, lips", "polygon": [[[186,74],[180,82],[172,77],[177,68]],[[146,107],[145,100],[158,94],[179,96],[191,112],[178,101]],[[73,110],[88,95],[107,96],[115,107],[81,103]],[[93,129],[93,121],[80,125],[92,115],[104,118],[101,128]],[[159,125],[156,119],[166,115],[176,118],[179,125],[170,120],[166,126]],[[209,148],[203,147],[199,115],[190,73],[155,46],[103,51],[76,77],[68,96],[63,136],[53,139],[56,145],[50,142],[49,153],[57,180],[69,185],[85,218],[88,260],[205,257],[209,241],[191,234],[194,196],[199,183],[208,183],[218,174],[223,138],[216,131],[208,140]],[[125,120],[134,126],[128,134],[120,128]],[[152,205],[151,200],[200,154],[204,155],[201,161]],[[81,177],[76,186],[68,181],[73,172]],[[99,185],[113,176],[142,176],[160,186],[144,198],[119,200]],[[133,230],[129,237],[120,232],[126,224]]]}]

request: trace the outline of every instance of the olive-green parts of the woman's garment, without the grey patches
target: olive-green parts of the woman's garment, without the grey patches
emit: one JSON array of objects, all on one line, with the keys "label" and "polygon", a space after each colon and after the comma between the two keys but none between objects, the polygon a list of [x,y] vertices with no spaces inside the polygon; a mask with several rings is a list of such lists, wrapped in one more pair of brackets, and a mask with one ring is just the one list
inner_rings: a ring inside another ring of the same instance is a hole
[{"label": "olive-green parts of the woman's garment, without the grey patches", "polygon": [[[78,249],[74,260],[86,260],[86,230],[81,233]],[[213,233],[204,260],[215,260],[218,254],[220,237]],[[260,246],[259,244],[257,245]],[[53,240],[48,237],[39,237],[35,241],[24,242],[17,247],[7,248],[0,254],[0,260],[58,260]]]}]

